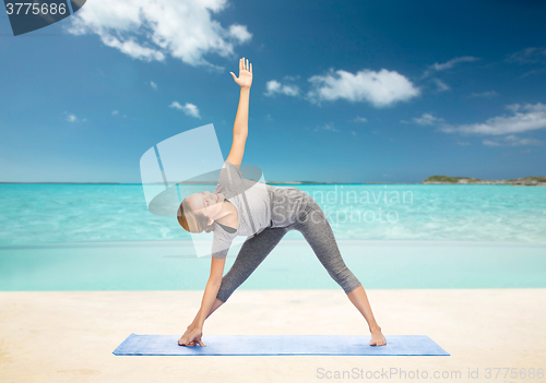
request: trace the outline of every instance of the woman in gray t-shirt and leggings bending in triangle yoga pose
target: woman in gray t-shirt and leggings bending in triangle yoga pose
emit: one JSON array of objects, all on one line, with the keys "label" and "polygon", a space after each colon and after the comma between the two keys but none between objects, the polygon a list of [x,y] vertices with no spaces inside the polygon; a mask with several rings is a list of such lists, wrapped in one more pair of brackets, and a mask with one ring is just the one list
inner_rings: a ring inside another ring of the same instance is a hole
[{"label": "woman in gray t-shirt and leggings bending in triangle yoga pose", "polygon": [[[232,151],[221,170],[215,192],[194,193],[178,208],[178,223],[187,231],[214,231],[211,275],[201,309],[180,346],[205,346],[201,340],[203,323],[239,287],[289,230],[300,231],[332,278],[368,322],[370,346],[387,340],[371,312],[366,292],[340,254],[332,228],[319,205],[295,188],[278,188],[242,178],[239,167],[248,134],[248,104],[252,64],[239,60],[239,106],[234,125]],[[223,276],[225,258],[236,236],[249,236],[229,272]]]}]

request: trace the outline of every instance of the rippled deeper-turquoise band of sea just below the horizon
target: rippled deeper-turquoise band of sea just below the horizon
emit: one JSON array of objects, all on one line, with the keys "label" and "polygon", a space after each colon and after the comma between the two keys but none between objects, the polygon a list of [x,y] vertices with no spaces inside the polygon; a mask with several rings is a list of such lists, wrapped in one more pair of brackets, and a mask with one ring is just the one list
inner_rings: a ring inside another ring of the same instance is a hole
[{"label": "rippled deeper-turquoise band of sea just below the horizon", "polygon": [[[337,239],[546,243],[546,188],[301,184]],[[183,185],[182,193],[214,185]],[[0,184],[0,244],[188,240],[141,184]],[[287,239],[300,238],[289,232]]]}]

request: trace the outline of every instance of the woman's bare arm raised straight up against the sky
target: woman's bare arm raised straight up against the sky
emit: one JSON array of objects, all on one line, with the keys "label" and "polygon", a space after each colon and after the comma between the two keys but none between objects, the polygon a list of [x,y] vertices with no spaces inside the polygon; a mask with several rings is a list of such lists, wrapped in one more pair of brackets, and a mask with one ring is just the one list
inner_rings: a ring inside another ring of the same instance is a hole
[{"label": "woman's bare arm raised straight up against the sky", "polygon": [[249,64],[245,58],[239,60],[239,77],[232,73],[235,82],[240,86],[239,107],[234,124],[234,141],[227,160],[237,168],[240,167],[242,155],[245,154],[245,144],[248,136],[248,103],[250,98],[250,86],[252,85],[252,64]]}]

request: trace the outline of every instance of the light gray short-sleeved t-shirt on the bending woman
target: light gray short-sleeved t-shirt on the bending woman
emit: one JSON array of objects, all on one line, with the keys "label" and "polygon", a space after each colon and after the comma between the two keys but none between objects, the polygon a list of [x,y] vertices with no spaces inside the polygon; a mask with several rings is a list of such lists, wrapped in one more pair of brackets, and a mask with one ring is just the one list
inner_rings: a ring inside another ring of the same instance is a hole
[{"label": "light gray short-sleeved t-shirt on the bending woman", "polygon": [[214,223],[212,256],[224,259],[232,241],[237,236],[254,236],[266,227],[285,227],[296,222],[297,213],[307,206],[310,199],[296,188],[273,187],[242,178],[237,167],[225,161],[219,171],[215,193],[223,193],[238,213],[235,232],[226,231]]}]

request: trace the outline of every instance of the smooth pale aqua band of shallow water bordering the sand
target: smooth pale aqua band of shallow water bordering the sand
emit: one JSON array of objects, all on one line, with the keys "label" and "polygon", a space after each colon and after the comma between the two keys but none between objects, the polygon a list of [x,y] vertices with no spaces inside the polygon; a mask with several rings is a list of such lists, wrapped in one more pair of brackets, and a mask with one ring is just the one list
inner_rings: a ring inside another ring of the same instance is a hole
[{"label": "smooth pale aqua band of shallow water bordering the sand", "polygon": [[[340,240],[365,288],[544,288],[546,244]],[[238,247],[230,249],[225,271]],[[0,290],[202,290],[190,241],[0,246]],[[240,289],[340,289],[305,240],[283,239]]]}]

